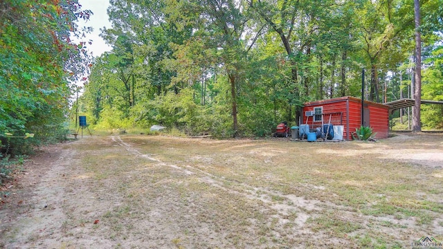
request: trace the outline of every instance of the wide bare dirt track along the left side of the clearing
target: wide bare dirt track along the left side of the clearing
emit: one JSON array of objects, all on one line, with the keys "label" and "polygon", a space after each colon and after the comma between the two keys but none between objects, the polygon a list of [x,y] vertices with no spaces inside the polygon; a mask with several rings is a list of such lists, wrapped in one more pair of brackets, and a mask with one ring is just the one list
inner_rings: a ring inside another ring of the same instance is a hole
[{"label": "wide bare dirt track along the left side of the clearing", "polygon": [[2,235],[5,248],[112,247],[113,241],[91,232],[94,220],[102,216],[97,207],[111,204],[94,198],[88,187],[93,180],[82,169],[78,154],[73,144],[45,151],[39,164],[46,164],[46,171],[37,176],[42,181],[30,194],[28,210]]}]

